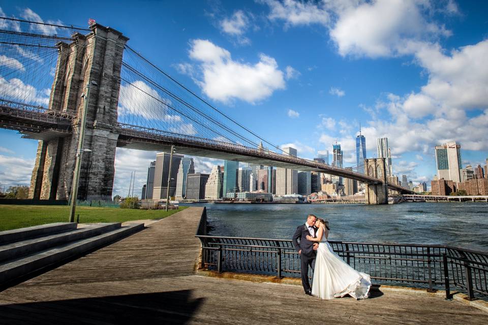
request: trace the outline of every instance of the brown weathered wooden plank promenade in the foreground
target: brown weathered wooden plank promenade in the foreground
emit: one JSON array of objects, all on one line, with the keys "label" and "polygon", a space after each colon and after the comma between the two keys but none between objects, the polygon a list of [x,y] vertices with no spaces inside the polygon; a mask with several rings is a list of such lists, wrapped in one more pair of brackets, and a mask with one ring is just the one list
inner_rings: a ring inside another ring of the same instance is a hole
[{"label": "brown weathered wooden plank promenade in the foreground", "polygon": [[321,301],[299,285],[198,275],[188,208],[126,239],[0,292],[0,323],[483,324],[488,313],[439,297],[381,293]]}]

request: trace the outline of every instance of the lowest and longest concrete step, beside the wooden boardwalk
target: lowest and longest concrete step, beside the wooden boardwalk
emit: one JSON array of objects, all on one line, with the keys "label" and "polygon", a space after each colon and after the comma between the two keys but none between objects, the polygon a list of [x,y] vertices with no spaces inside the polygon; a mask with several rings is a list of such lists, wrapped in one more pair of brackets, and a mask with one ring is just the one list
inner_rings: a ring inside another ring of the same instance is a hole
[{"label": "lowest and longest concrete step, beside the wooden boardwalk", "polygon": [[9,261],[0,265],[0,286],[21,276],[47,268],[54,263],[62,262],[67,258],[81,255],[88,250],[106,246],[142,229],[144,229],[143,223],[130,224],[98,236],[66,243]]}]

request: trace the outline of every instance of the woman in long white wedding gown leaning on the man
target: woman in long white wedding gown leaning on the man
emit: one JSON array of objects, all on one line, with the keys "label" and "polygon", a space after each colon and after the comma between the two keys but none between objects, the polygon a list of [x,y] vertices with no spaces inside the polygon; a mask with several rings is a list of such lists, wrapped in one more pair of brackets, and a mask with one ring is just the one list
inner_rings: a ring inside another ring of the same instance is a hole
[{"label": "woman in long white wedding gown leaning on the man", "polygon": [[308,240],[319,242],[315,261],[312,295],[322,299],[332,299],[350,295],[355,299],[369,297],[371,279],[368,274],[350,267],[332,250],[327,241],[329,222],[318,218],[317,237],[307,236]]}]

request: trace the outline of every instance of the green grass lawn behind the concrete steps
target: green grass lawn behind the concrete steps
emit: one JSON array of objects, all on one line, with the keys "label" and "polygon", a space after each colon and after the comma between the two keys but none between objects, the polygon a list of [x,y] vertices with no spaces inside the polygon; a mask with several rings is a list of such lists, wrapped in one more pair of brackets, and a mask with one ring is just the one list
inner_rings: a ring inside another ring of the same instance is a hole
[{"label": "green grass lawn behind the concrete steps", "polygon": [[[119,208],[76,207],[76,216],[80,223],[89,222],[125,222],[130,220],[162,219],[178,210],[138,210]],[[51,222],[68,222],[69,206],[48,205],[0,205],[0,231],[29,227]]]}]

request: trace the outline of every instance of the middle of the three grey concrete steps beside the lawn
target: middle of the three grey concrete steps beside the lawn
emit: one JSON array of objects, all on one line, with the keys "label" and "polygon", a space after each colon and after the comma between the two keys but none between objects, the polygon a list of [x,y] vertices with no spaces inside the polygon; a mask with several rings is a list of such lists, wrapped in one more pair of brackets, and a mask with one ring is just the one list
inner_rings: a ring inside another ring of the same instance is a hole
[{"label": "middle of the three grey concrete steps beside the lawn", "polygon": [[97,236],[117,228],[120,228],[120,222],[96,223],[87,225],[85,228],[0,245],[0,264],[2,264],[2,261],[46,250],[64,243]]}]

